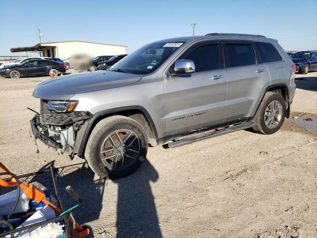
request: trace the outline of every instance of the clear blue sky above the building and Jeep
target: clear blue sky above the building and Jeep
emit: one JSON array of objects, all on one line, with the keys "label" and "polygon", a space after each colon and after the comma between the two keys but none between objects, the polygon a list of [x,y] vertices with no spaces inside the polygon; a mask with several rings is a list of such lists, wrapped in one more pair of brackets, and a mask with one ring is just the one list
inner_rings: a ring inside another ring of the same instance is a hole
[{"label": "clear blue sky above the building and Jeep", "polygon": [[127,45],[211,32],[260,34],[284,50],[317,49],[317,0],[0,0],[0,56],[10,48],[84,40]]}]

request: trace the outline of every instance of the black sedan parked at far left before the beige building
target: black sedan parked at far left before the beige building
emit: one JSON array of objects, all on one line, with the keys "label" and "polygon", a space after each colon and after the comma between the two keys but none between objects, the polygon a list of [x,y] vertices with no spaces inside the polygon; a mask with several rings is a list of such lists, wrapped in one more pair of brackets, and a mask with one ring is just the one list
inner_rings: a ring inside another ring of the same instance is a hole
[{"label": "black sedan parked at far left before the beige building", "polygon": [[22,76],[49,75],[50,70],[53,71],[54,76],[58,76],[59,72],[66,71],[63,63],[53,60],[31,59],[0,69],[0,76],[20,78]]}]

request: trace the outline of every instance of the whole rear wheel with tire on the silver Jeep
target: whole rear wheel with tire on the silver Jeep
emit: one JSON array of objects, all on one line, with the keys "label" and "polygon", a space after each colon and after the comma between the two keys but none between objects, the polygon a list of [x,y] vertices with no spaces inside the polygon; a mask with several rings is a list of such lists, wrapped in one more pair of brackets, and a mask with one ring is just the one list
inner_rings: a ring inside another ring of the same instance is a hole
[{"label": "whole rear wheel with tire on the silver Jeep", "polygon": [[275,133],[284,122],[285,112],[286,103],[282,95],[266,92],[253,119],[257,122],[253,130],[266,135]]}]

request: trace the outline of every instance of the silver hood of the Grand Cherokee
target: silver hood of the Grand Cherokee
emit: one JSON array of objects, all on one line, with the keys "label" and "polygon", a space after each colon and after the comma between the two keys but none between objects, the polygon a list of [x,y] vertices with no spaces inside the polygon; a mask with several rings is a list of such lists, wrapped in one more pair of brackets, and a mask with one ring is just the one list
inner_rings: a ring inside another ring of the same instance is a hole
[{"label": "silver hood of the Grand Cherokee", "polygon": [[128,85],[141,78],[138,74],[104,70],[70,74],[40,83],[35,87],[33,96],[46,100],[68,100],[78,93]]}]

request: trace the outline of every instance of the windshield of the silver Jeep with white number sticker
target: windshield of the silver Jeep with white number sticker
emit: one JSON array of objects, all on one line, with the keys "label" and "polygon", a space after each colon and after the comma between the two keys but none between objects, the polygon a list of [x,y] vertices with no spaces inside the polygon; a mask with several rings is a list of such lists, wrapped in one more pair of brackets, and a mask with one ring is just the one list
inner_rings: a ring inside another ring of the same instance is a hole
[{"label": "windshield of the silver Jeep with white number sticker", "polygon": [[111,67],[111,71],[148,74],[156,70],[183,43],[159,42],[145,45]]}]

